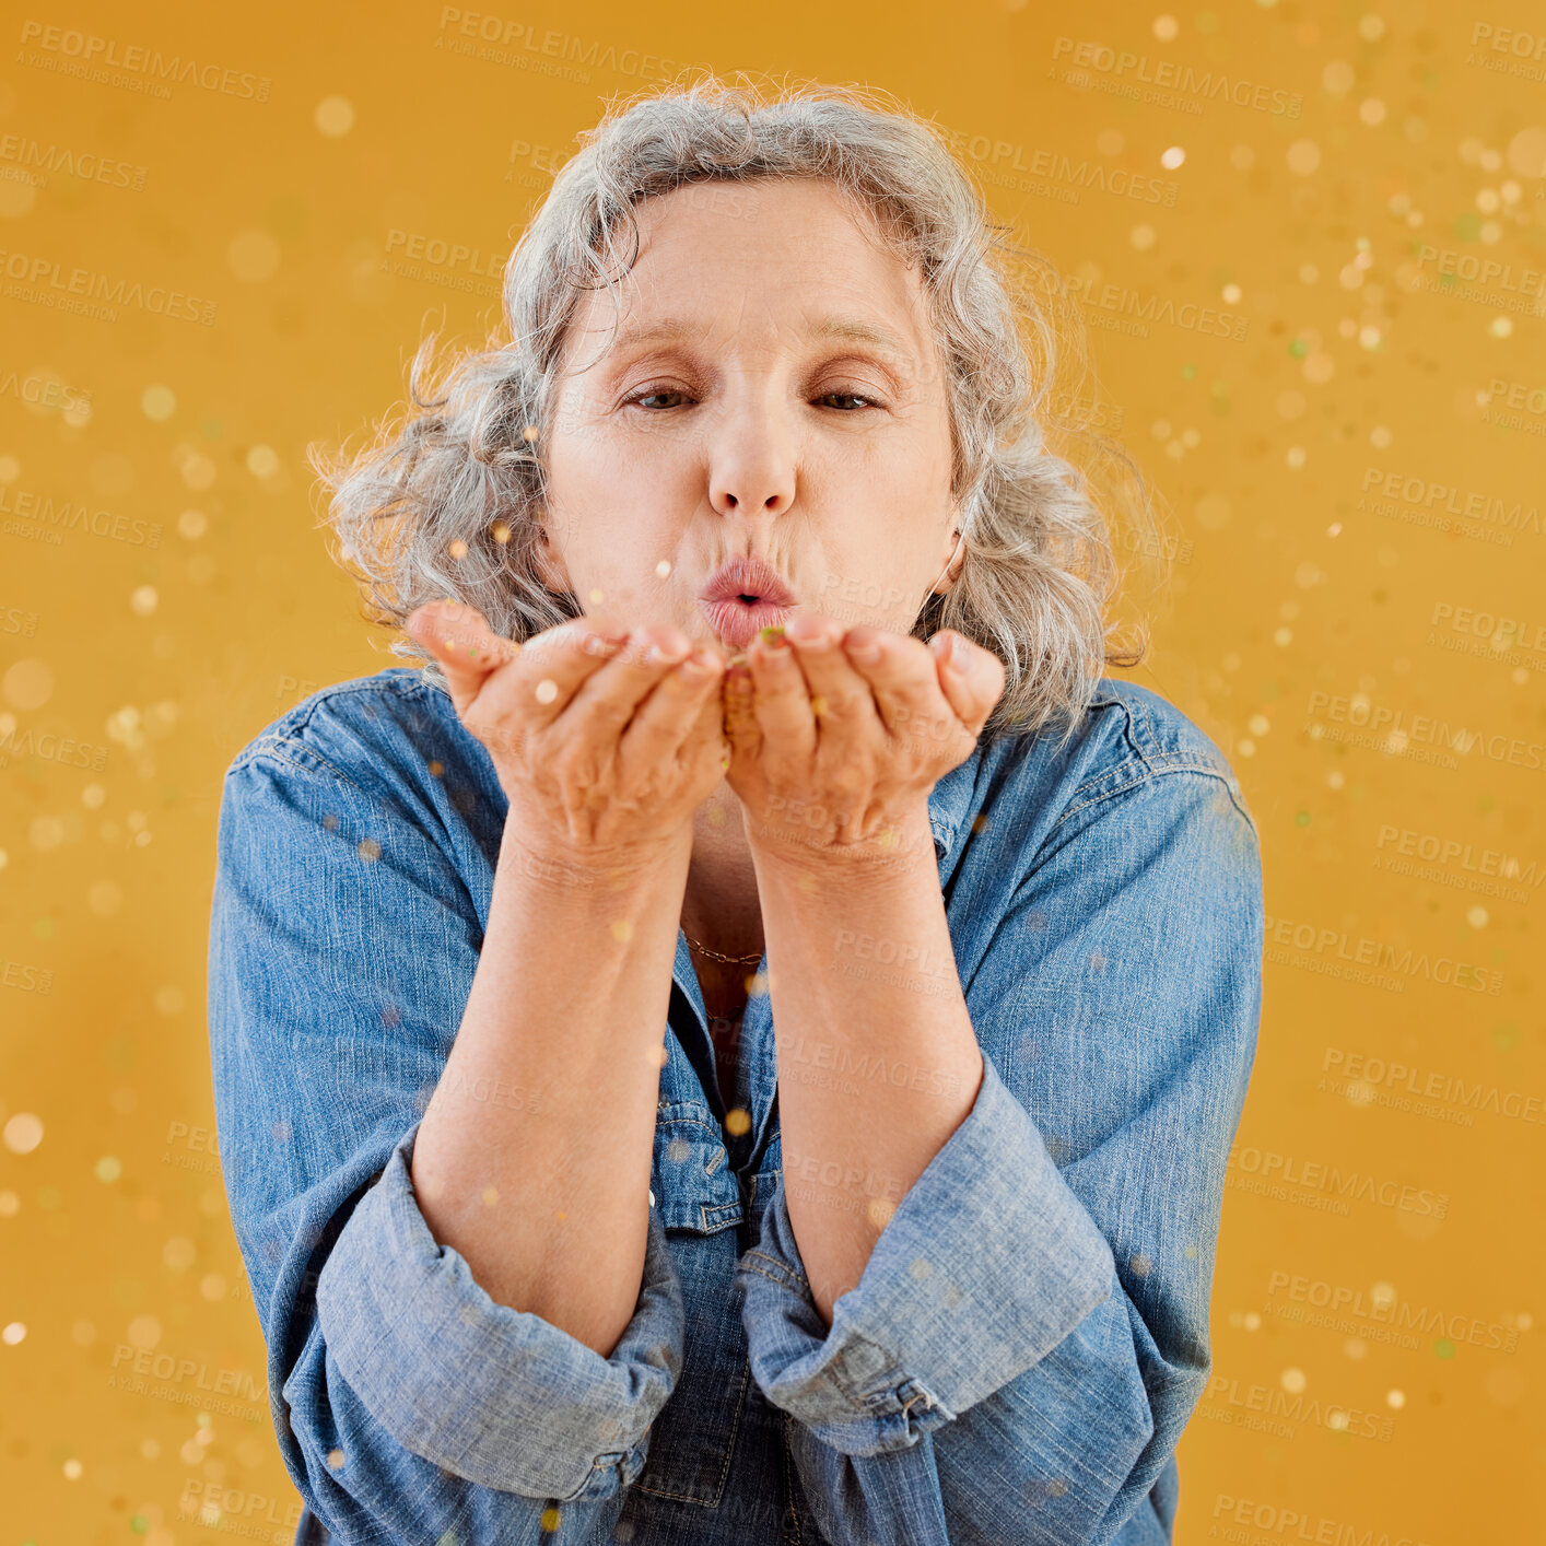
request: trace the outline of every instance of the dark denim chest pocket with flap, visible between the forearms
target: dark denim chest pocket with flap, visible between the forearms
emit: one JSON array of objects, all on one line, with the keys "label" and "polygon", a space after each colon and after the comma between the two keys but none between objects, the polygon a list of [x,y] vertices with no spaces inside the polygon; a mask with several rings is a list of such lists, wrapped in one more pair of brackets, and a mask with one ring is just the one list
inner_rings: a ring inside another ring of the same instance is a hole
[{"label": "dark denim chest pocket with flap, visible between the forearms", "polygon": [[707,1105],[662,1104],[649,1184],[682,1279],[686,1348],[634,1490],[713,1507],[730,1475],[751,1365],[734,1280],[745,1207]]}]

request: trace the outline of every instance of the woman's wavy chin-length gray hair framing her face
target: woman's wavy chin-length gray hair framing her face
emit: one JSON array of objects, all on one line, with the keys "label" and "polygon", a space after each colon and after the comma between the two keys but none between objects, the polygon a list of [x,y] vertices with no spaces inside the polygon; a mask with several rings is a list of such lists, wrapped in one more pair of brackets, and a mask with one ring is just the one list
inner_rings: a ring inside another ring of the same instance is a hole
[{"label": "woman's wavy chin-length gray hair framing her face", "polygon": [[[1051,264],[1005,240],[1008,227],[989,221],[946,138],[883,93],[765,91],[708,76],[612,105],[580,142],[506,264],[507,342],[496,334],[436,380],[431,332],[408,379],[416,416],[400,427],[383,421],[354,455],[308,451],[331,492],[318,524],[331,526],[332,557],[365,594],[363,615],[402,629],[416,608],[451,597],[512,640],[580,615],[574,595],[543,583],[538,552],[540,448],[581,292],[604,284],[620,314],[617,277],[637,261],[642,199],[703,181],[821,178],[918,267],[946,363],[963,558],[949,591],[926,598],[912,634],[928,640],[952,628],[1003,662],[1005,691],[985,737],[1054,720],[1071,736],[1104,666],[1138,663],[1147,629],[1135,646],[1113,638],[1105,612],[1121,566],[1112,529],[1090,478],[1059,455],[1087,430],[1088,411],[1081,422],[1053,399],[1059,332],[1076,337],[1076,359],[1084,332],[1067,305],[1057,326],[1067,289]],[[1138,521],[1147,523],[1136,467],[1113,441],[1090,439],[1096,461],[1136,482]],[[422,662],[445,690],[414,640],[393,642],[391,652]]]}]

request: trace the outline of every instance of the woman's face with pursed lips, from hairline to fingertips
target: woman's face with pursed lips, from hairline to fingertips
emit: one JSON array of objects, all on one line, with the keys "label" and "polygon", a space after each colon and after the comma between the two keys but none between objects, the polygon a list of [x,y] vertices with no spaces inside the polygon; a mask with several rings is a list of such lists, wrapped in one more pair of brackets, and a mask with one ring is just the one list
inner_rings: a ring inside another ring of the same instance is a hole
[{"label": "woman's face with pursed lips, from hairline to fingertips", "polygon": [[[598,289],[566,340],[547,583],[728,652],[796,609],[909,632],[957,527],[917,272],[818,181],[691,184],[637,218],[615,339],[597,360]],[[736,558],[771,575],[702,598]]]}]

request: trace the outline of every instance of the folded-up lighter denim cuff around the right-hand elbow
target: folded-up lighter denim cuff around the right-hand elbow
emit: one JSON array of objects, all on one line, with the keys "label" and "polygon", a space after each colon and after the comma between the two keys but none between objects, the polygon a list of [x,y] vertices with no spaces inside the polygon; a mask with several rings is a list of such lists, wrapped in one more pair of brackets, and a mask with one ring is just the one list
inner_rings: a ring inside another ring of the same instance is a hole
[{"label": "folded-up lighter denim cuff around the right-hand elbow", "polygon": [[782,1177],[741,1282],[758,1384],[844,1455],[914,1444],[1042,1359],[1116,1289],[1105,1237],[991,1059],[971,1112],[833,1305],[830,1331]]}]

